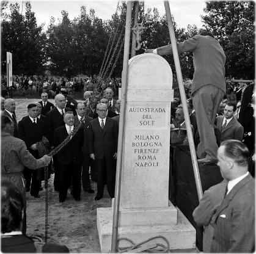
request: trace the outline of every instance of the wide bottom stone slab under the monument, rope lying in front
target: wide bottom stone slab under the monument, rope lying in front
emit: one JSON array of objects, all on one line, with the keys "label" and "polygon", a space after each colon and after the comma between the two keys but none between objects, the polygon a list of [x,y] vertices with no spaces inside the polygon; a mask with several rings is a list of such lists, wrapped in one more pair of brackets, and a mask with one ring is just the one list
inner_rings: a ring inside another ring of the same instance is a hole
[{"label": "wide bottom stone slab under the monument, rope lying in front", "polygon": [[[159,225],[136,225],[133,221],[130,225],[119,227],[118,238],[128,238],[138,244],[148,238],[164,236],[170,244],[170,250],[194,249],[196,247],[196,230],[177,208],[177,223],[163,223]],[[97,208],[97,228],[102,252],[111,250],[112,241],[112,208]],[[166,245],[163,239],[154,239],[150,243]],[[130,242],[120,241],[119,247],[130,246]]]}]

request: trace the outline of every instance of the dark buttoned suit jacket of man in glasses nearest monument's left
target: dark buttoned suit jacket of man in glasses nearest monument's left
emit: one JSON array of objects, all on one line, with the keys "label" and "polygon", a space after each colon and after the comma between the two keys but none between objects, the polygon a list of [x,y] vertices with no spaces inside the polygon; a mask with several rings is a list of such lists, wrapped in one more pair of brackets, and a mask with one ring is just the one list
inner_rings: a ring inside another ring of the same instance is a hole
[{"label": "dark buttoned suit jacket of man in glasses nearest monument's left", "polygon": [[89,123],[89,154],[94,153],[96,159],[113,158],[117,153],[118,125],[117,122],[106,117],[106,124],[101,129],[98,118]]}]

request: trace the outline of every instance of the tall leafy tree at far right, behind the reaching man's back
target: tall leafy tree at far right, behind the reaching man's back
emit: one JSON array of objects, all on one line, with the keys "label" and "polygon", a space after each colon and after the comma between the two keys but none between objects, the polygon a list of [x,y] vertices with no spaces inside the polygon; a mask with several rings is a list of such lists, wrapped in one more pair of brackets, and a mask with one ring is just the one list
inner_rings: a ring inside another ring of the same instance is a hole
[{"label": "tall leafy tree at far right, behind the reaching man's back", "polygon": [[253,78],[254,7],[250,3],[207,3],[203,27],[213,32],[226,54],[226,76]]}]

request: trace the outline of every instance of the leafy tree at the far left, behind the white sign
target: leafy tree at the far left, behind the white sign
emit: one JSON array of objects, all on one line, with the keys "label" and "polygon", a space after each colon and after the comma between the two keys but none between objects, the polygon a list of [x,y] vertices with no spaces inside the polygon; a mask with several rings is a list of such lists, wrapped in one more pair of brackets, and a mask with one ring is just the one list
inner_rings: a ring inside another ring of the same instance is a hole
[{"label": "leafy tree at the far left, behind the white sign", "polygon": [[[5,5],[5,8],[7,5]],[[4,13],[3,48],[4,60],[6,52],[12,53],[13,73],[41,74],[44,70],[46,35],[43,24],[37,26],[35,13],[31,12],[31,4],[26,3],[25,15],[19,12],[19,4],[10,4],[10,14]],[[4,66],[6,68],[6,66]]]}]

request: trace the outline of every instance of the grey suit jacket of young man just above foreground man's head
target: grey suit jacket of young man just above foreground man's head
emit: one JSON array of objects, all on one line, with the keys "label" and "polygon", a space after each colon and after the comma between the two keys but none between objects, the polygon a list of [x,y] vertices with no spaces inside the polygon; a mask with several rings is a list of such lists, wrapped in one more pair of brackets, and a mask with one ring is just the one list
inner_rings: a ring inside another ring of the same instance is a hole
[{"label": "grey suit jacket of young man just above foreground man's head", "polygon": [[[224,118],[224,115],[216,117],[216,125],[219,131],[221,131],[223,118]],[[225,126],[225,129],[222,129],[220,142],[227,139],[236,139],[236,140],[242,141],[243,135],[244,135],[243,126],[241,126],[240,123],[238,123],[238,121],[235,120],[235,118],[232,118],[232,120],[227,124],[227,126]]]}]

